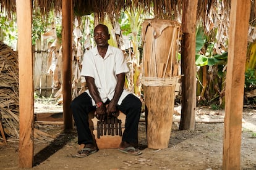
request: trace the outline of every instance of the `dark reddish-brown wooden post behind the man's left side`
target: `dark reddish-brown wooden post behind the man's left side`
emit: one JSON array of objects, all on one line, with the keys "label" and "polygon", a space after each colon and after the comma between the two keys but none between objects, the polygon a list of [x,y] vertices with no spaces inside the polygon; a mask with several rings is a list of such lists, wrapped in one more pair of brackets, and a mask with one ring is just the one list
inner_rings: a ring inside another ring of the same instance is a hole
[{"label": "dark reddish-brown wooden post behind the man's left side", "polygon": [[73,121],[70,111],[71,103],[71,59],[72,59],[72,1],[62,0],[62,88],[64,129],[72,129]]}]

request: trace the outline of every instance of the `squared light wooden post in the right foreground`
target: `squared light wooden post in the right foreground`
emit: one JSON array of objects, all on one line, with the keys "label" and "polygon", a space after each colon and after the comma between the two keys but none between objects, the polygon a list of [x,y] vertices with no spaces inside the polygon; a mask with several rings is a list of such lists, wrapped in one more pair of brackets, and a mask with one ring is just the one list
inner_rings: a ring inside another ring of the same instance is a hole
[{"label": "squared light wooden post in the right foreground", "polygon": [[225,91],[223,169],[240,169],[244,74],[250,0],[231,1]]}]

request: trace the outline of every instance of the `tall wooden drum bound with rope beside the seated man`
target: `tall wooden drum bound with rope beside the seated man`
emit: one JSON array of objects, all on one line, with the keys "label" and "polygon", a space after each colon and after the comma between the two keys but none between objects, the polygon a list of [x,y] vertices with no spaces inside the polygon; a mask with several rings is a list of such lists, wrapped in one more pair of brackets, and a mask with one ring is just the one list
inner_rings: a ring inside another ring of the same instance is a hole
[{"label": "tall wooden drum bound with rope beside the seated man", "polygon": [[142,24],[143,73],[148,148],[168,148],[181,24],[172,20],[145,20]]}]

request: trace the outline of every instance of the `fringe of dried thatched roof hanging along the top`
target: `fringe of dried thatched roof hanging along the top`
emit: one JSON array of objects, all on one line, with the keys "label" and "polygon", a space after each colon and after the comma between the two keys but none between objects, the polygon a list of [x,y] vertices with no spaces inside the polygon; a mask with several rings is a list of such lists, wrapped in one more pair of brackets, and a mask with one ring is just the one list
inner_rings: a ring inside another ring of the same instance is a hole
[{"label": "fringe of dried thatched roof hanging along the top", "polygon": [[[229,8],[231,0],[223,0],[223,5]],[[153,9],[157,18],[176,17],[181,13],[182,0],[73,0],[74,10],[77,15],[87,15],[92,12],[103,14],[106,12],[109,15],[119,14],[122,9],[127,7],[143,7],[145,10]],[[0,0],[1,7],[7,10],[8,16],[15,12],[15,0]],[[198,0],[198,14],[205,15],[216,1],[213,0]],[[61,0],[33,0],[33,9],[40,10],[42,14],[46,14],[50,10],[61,10]]]}]

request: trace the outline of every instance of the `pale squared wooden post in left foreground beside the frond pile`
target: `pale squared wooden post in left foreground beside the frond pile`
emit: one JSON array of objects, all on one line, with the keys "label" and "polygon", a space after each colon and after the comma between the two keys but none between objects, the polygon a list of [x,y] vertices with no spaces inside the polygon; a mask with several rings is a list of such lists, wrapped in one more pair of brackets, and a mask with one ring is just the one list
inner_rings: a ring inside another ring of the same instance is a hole
[{"label": "pale squared wooden post in left foreground beside the frond pile", "polygon": [[19,167],[33,166],[32,1],[16,1],[19,52]]}]

